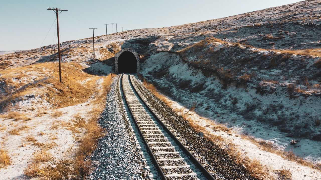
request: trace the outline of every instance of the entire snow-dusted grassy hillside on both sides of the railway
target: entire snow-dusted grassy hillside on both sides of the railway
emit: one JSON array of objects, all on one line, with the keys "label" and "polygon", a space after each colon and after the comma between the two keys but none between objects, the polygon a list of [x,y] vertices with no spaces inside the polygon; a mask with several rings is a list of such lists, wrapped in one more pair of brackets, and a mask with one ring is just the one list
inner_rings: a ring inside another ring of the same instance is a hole
[{"label": "entire snow-dusted grassy hillside on both sides of the railway", "polygon": [[[92,38],[63,42],[64,84],[57,82],[56,44],[0,55],[1,149],[15,165],[0,173],[17,172],[8,176],[11,179],[23,176],[26,163],[38,151],[51,154],[48,161],[40,160],[45,164],[69,154],[77,157],[80,139],[89,128],[84,124],[97,120],[104,108],[114,56],[130,48],[140,54],[139,77],[173,101],[173,109],[194,109],[190,119],[204,131],[235,144],[240,154],[259,160],[273,177],[284,167],[292,179],[320,178],[320,14],[321,1],[307,0],[215,20],[109,34],[107,41],[105,35],[98,36],[95,60]],[[48,124],[42,123],[45,120]],[[233,133],[213,130],[210,123]],[[229,143],[224,143],[228,150]],[[29,159],[18,167],[22,155]]]}]

